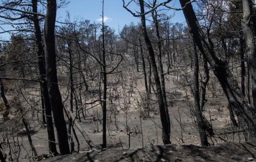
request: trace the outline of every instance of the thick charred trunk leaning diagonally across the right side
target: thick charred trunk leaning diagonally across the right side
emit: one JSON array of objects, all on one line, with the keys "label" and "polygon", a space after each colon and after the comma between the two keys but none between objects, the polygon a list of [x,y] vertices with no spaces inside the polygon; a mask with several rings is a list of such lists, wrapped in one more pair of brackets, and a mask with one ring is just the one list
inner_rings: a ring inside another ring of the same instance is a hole
[{"label": "thick charred trunk leaning diagonally across the right side", "polygon": [[239,125],[243,129],[246,141],[256,140],[256,117],[251,105],[243,96],[235,77],[229,70],[226,60],[213,50],[211,39],[206,39],[200,29],[198,20],[190,0],[179,0],[183,13],[187,20],[192,37],[195,40],[200,52],[206,57],[207,61],[213,68],[215,76],[218,78],[222,89],[224,90],[229,103],[233,106]]}]

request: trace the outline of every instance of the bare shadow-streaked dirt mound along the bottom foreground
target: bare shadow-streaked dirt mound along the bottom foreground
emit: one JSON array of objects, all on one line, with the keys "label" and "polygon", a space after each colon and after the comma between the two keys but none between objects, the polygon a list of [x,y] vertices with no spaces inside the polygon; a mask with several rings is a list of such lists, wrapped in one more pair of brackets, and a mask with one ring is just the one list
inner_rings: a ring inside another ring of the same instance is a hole
[{"label": "bare shadow-streaked dirt mound along the bottom foreground", "polygon": [[44,162],[256,162],[255,143],[223,143],[211,147],[161,145],[134,150],[107,149],[54,157]]}]

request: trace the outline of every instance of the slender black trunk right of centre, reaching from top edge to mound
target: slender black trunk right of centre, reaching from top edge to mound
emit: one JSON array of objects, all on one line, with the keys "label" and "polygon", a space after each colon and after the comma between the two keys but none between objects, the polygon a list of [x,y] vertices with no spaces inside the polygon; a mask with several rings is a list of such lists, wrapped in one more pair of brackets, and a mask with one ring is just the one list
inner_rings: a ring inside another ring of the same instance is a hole
[{"label": "slender black trunk right of centre, reaching from top edge to mound", "polygon": [[168,112],[168,109],[166,109],[165,105],[164,105],[163,95],[162,95],[162,90],[161,90],[161,83],[160,83],[160,79],[158,76],[157,66],[156,66],[155,57],[154,57],[154,50],[153,50],[152,44],[149,40],[149,36],[147,33],[147,29],[146,29],[146,18],[145,18],[145,15],[143,15],[145,13],[144,0],[139,0],[139,2],[140,2],[141,14],[142,14],[141,27],[142,27],[144,39],[145,39],[145,42],[146,42],[146,45],[147,45],[147,48],[149,51],[149,58],[150,58],[152,72],[154,75],[154,80],[155,80],[155,85],[156,85],[157,101],[158,101],[158,105],[159,105],[159,109],[160,109],[160,118],[161,118],[161,123],[162,123],[162,139],[163,139],[164,144],[171,144],[170,134],[169,134],[171,122],[170,122],[170,120],[168,121],[168,119],[170,119],[169,112]]}]

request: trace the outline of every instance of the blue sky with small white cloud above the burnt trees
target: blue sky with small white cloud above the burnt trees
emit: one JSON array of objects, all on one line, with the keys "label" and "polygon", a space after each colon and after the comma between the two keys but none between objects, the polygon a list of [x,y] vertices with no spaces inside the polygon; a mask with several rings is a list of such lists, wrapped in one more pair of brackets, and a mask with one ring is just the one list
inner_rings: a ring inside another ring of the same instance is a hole
[{"label": "blue sky with small white cloud above the burnt trees", "polygon": [[[125,0],[128,2],[129,0]],[[162,2],[164,0],[158,0]],[[180,8],[179,0],[173,0],[169,4],[176,8]],[[130,4],[130,9],[139,11],[136,4]],[[70,0],[70,3],[65,7],[58,10],[57,17],[64,19],[66,11],[69,11],[71,18],[84,18],[91,22],[98,22],[97,19],[102,15],[102,0]],[[168,14],[172,15],[174,11],[169,11]],[[114,28],[116,31],[121,30],[125,24],[130,22],[138,22],[139,18],[134,18],[126,9],[123,8],[122,0],[105,0],[105,14],[107,18],[106,25]],[[182,11],[176,11],[175,16],[171,19],[172,22],[185,23],[185,18]]]}]

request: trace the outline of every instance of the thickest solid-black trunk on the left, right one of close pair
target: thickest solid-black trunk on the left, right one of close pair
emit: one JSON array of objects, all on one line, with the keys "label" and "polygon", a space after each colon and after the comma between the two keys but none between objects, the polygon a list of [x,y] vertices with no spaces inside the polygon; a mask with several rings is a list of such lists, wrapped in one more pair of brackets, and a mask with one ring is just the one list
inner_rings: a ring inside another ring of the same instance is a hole
[{"label": "thickest solid-black trunk on the left, right one of close pair", "polygon": [[64,119],[62,97],[58,86],[56,52],[55,52],[55,20],[56,20],[56,0],[47,0],[47,11],[44,22],[44,41],[46,56],[46,74],[48,83],[48,93],[53,112],[54,122],[57,130],[60,153],[70,154],[67,128]]}]

